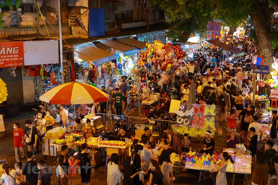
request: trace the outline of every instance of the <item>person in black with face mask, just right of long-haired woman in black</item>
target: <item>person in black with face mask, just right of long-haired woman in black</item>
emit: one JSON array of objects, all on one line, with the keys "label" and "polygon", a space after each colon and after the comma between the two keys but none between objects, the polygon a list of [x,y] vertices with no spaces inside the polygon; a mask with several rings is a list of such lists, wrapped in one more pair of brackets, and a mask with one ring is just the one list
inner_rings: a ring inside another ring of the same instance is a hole
[{"label": "person in black with face mask, just right of long-haired woman in black", "polygon": [[[141,163],[140,154],[143,152],[142,145],[135,145],[135,154],[133,156],[132,173],[137,173],[141,171],[141,168],[146,165],[146,162]],[[143,185],[142,181],[139,179],[139,175],[133,177],[134,185]]]}]

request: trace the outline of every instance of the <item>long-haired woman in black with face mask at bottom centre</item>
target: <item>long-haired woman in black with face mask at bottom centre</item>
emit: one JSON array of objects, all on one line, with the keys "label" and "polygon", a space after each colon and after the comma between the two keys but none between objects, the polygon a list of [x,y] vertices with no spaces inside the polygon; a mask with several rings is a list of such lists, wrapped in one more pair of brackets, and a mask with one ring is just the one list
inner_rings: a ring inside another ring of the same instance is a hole
[{"label": "long-haired woman in black with face mask at bottom centre", "polygon": [[150,175],[150,182],[148,185],[164,185],[163,182],[163,174],[160,169],[159,163],[156,160],[151,160],[150,162],[150,169],[151,169],[151,175]]}]

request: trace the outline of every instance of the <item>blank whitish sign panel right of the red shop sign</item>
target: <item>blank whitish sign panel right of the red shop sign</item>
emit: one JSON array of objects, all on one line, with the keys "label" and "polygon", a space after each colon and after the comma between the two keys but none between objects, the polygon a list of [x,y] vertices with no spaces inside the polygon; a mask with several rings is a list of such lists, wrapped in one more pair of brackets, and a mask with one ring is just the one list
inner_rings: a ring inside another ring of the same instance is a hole
[{"label": "blank whitish sign panel right of the red shop sign", "polygon": [[58,40],[24,42],[24,60],[25,65],[57,64]]}]

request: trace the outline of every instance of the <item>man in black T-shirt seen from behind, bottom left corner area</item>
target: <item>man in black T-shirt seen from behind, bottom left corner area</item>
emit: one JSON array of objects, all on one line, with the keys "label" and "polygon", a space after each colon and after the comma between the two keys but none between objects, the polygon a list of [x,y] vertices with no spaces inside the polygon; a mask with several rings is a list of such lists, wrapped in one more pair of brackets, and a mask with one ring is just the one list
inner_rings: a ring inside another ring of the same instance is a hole
[{"label": "man in black T-shirt seen from behind, bottom left corner area", "polygon": [[26,158],[27,158],[27,162],[24,163],[21,168],[23,180],[25,182],[28,182],[30,185],[37,185],[38,173],[40,170],[38,169],[37,163],[33,160],[33,152],[27,151]]}]

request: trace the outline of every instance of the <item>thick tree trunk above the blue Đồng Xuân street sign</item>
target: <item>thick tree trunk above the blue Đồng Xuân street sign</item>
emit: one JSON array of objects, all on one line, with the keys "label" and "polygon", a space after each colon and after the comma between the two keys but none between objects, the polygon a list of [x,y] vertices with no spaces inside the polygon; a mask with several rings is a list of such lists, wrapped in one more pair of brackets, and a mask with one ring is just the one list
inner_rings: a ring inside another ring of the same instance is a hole
[{"label": "thick tree trunk above the blue \u0110\u1ed3ng Xu\u00e2n street sign", "polygon": [[268,7],[268,0],[262,2],[256,0],[252,4],[252,13],[250,14],[250,17],[257,36],[258,54],[264,58],[264,65],[268,66],[271,66],[273,63],[270,39],[270,18],[273,13],[274,10]]}]

